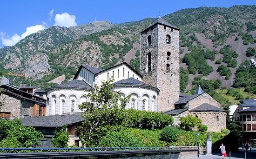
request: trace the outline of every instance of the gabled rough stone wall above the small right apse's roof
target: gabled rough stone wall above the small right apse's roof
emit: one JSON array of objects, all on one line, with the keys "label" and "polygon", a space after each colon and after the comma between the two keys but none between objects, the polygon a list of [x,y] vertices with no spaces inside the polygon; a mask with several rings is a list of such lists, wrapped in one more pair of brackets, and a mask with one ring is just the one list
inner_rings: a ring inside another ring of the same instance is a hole
[{"label": "gabled rough stone wall above the small right apse's roof", "polygon": [[189,107],[189,110],[201,105],[202,103],[208,103],[212,106],[220,107],[221,104],[212,98],[208,93],[203,93],[200,96],[189,100],[185,107]]}]

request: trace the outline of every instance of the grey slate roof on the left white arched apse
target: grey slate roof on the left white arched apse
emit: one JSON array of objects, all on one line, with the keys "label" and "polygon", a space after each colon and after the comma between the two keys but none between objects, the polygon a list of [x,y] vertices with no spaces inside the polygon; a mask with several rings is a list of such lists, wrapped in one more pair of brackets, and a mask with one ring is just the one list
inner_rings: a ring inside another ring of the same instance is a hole
[{"label": "grey slate roof on the left white arched apse", "polygon": [[82,88],[82,89],[92,89],[84,80],[70,80],[58,86],[53,86],[51,88]]}]

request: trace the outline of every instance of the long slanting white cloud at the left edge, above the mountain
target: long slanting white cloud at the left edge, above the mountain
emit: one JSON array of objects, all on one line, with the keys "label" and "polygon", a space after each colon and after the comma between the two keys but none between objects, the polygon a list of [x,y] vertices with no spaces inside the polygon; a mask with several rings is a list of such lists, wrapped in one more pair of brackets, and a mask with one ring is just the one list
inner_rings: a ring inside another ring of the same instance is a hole
[{"label": "long slanting white cloud at the left edge, above the mountain", "polygon": [[45,29],[45,27],[43,25],[29,26],[29,27],[27,27],[26,32],[22,33],[21,35],[14,33],[12,37],[9,37],[9,36],[5,36],[5,33],[1,32],[0,37],[2,40],[3,46],[13,46],[20,40],[24,39],[27,35],[36,33],[43,29]]}]

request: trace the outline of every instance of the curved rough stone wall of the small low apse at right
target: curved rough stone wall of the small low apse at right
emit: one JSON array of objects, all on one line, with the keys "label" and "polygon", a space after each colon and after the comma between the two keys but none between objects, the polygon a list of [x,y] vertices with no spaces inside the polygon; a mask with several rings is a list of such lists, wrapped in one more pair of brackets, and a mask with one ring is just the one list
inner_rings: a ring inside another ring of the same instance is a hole
[{"label": "curved rough stone wall of the small low apse at right", "polygon": [[[190,115],[198,116],[199,119],[202,120],[202,124],[208,126],[209,132],[220,132],[223,128],[226,128],[226,112],[214,112],[214,111],[206,111],[206,112],[194,112],[190,111]],[[219,118],[217,119],[217,116]]]}]

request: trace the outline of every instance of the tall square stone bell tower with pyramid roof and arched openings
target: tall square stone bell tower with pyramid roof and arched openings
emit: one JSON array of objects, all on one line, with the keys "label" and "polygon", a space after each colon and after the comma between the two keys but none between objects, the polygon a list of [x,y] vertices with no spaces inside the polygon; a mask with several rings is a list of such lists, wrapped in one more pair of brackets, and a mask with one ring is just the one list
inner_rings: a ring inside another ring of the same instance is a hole
[{"label": "tall square stone bell tower with pyramid roof and arched openings", "polygon": [[179,99],[179,29],[160,16],[141,32],[143,82],[160,90],[158,112],[174,109]]}]

